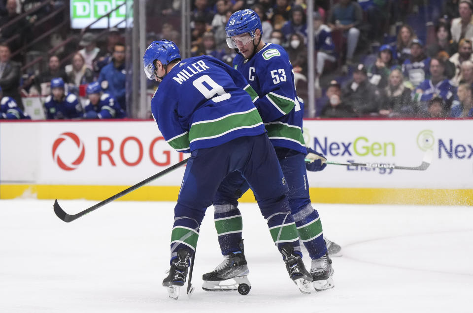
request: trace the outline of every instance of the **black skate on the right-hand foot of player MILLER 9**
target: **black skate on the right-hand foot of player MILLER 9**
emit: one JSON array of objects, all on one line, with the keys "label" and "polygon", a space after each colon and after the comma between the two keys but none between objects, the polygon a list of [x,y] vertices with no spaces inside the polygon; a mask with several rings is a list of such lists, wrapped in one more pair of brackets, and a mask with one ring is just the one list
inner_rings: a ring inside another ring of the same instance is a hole
[{"label": "black skate on the right-hand foot of player MILLER 9", "polygon": [[310,283],[312,275],[305,269],[302,257],[294,254],[294,247],[285,245],[281,248],[281,254],[284,256],[286,269],[289,277],[294,281],[302,293],[310,294]]}]

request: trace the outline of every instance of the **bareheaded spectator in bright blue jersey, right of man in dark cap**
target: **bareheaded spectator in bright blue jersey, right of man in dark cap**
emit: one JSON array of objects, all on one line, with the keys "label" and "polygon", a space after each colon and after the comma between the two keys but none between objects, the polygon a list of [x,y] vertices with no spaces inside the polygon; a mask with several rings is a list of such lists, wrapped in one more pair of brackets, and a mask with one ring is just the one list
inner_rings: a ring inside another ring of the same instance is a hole
[{"label": "bareheaded spectator in bright blue jersey, right of man in dark cap", "polygon": [[445,105],[444,111],[448,110],[456,93],[456,88],[443,75],[445,66],[441,60],[436,57],[431,58],[429,71],[431,78],[420,83],[414,91],[417,95],[414,98],[420,99],[419,114],[421,115],[427,113],[427,102],[434,97],[442,98]]}]

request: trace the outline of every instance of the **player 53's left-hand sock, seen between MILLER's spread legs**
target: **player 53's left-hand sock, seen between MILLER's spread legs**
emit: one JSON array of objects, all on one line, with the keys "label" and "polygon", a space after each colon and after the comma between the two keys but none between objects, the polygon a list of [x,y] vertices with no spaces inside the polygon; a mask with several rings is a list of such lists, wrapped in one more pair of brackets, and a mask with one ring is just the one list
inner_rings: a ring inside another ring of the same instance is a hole
[{"label": "player 53's left-hand sock, seen between MILLER's spread legs", "polygon": [[240,210],[232,204],[215,205],[214,208],[215,228],[222,255],[227,256],[231,252],[240,251],[239,243],[243,230]]}]

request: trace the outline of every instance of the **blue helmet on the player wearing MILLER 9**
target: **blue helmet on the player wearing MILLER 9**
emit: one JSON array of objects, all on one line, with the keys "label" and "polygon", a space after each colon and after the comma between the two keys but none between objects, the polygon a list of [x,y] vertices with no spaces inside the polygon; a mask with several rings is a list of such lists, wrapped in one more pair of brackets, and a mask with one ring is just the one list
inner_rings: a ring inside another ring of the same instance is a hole
[{"label": "blue helmet on the player wearing MILLER 9", "polygon": [[181,59],[179,48],[175,43],[166,39],[153,41],[143,56],[144,72],[148,79],[154,80],[156,77],[155,61],[158,60],[166,66],[175,59]]}]

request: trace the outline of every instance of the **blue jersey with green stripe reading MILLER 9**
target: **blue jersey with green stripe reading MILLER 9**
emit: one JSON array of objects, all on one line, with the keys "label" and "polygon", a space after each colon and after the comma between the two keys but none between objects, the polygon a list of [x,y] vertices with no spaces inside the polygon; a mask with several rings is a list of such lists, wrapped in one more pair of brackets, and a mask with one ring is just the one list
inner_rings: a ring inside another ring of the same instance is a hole
[{"label": "blue jersey with green stripe reading MILLER 9", "polygon": [[248,93],[255,92],[227,64],[214,57],[190,57],[163,78],[151,111],[166,142],[190,152],[265,132]]}]

